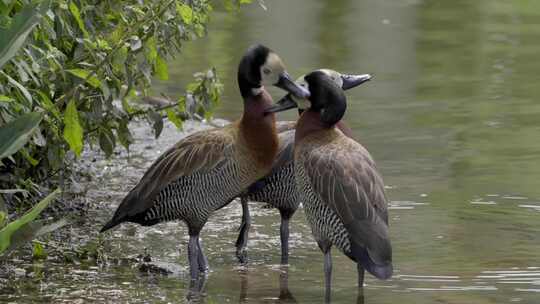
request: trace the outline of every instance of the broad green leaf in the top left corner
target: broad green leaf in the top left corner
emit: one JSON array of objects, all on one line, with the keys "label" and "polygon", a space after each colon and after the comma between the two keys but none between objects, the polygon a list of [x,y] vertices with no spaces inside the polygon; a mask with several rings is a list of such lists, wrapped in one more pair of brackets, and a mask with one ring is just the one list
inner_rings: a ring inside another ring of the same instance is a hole
[{"label": "broad green leaf in the top left corner", "polygon": [[40,14],[46,12],[50,4],[50,1],[43,1],[39,5],[26,5],[12,18],[8,28],[0,28],[0,69],[17,54],[28,34],[39,23]]}]

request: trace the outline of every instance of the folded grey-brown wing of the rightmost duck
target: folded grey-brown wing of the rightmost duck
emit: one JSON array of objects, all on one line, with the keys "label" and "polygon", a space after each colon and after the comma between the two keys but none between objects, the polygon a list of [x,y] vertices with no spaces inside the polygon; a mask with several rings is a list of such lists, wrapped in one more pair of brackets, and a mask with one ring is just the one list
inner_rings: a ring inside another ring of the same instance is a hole
[{"label": "folded grey-brown wing of the rightmost duck", "polygon": [[384,183],[369,152],[342,135],[324,149],[311,147],[303,166],[314,191],[349,232],[353,256],[367,251],[376,265],[391,264]]}]

